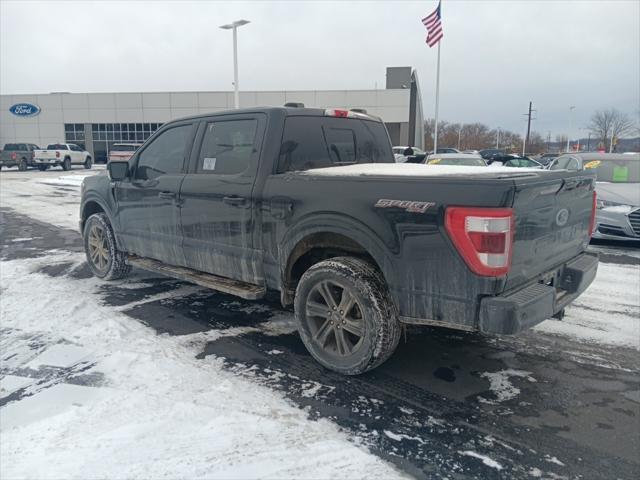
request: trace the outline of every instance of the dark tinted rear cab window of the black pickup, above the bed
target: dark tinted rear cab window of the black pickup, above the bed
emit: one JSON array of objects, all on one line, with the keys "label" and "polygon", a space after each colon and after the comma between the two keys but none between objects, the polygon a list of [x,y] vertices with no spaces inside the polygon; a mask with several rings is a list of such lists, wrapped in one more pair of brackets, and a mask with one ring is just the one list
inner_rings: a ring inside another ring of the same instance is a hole
[{"label": "dark tinted rear cab window of the black pickup, above the bed", "polygon": [[278,172],[394,161],[380,122],[295,116],[285,121]]}]

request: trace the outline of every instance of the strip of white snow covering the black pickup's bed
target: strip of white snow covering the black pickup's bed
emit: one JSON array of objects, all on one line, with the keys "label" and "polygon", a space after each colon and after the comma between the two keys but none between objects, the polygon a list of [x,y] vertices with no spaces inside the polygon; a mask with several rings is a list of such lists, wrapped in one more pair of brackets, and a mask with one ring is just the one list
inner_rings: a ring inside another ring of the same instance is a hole
[{"label": "strip of white snow covering the black pickup's bed", "polygon": [[297,172],[301,175],[322,175],[336,177],[443,177],[456,175],[492,175],[492,174],[521,174],[547,173],[547,170],[536,168],[513,167],[470,167],[463,165],[423,165],[420,163],[358,163],[339,167],[313,168]]}]

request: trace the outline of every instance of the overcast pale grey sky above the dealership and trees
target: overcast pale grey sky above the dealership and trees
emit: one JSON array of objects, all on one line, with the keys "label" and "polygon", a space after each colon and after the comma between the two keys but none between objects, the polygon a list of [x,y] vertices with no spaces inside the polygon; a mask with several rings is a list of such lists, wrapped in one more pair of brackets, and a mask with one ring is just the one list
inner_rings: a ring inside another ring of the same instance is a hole
[{"label": "overcast pale grey sky above the dealership and trees", "polygon": [[[238,31],[246,90],[384,88],[413,66],[434,112],[429,1],[0,0],[0,92],[231,90]],[[640,1],[456,1],[442,6],[441,119],[574,134],[599,108],[640,110]],[[573,136],[573,135],[572,135]]]}]

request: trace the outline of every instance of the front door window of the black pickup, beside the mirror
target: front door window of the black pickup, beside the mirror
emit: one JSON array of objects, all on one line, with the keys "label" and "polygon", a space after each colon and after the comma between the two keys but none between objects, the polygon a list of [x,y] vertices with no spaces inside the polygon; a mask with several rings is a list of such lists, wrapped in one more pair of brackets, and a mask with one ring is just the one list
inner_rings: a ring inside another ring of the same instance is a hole
[{"label": "front door window of the black pickup, beside the mirror", "polygon": [[135,178],[151,180],[164,174],[180,173],[192,125],[180,125],[162,132],[138,157]]}]

